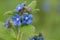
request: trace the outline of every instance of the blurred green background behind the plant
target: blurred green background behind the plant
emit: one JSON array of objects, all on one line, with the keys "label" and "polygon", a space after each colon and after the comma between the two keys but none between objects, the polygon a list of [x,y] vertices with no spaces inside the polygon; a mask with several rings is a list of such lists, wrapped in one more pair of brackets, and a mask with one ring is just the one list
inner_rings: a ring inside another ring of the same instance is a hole
[{"label": "blurred green background behind the plant", "polygon": [[[29,4],[32,0],[22,0],[27,1]],[[59,0],[36,0],[36,8],[40,9],[34,15],[33,25],[36,27],[36,33],[42,32],[45,40],[60,40],[60,12],[56,11],[57,3]],[[44,11],[42,9],[42,4],[47,3],[50,5],[50,9]],[[6,11],[13,10],[17,4],[21,3],[20,0],[0,0],[0,40],[3,40],[4,31],[2,31],[2,23],[8,16],[3,14]],[[60,8],[60,7],[59,7]],[[11,36],[11,35],[10,35]],[[4,36],[5,37],[5,36]],[[8,35],[6,35],[8,37]],[[12,38],[12,37],[11,37]]]}]

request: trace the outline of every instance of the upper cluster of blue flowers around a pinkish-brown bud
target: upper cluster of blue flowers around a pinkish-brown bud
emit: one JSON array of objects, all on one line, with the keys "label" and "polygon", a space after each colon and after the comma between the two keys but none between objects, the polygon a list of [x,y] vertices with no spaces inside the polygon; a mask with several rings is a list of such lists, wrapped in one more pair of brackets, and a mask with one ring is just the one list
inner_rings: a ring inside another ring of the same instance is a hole
[{"label": "upper cluster of blue flowers around a pinkish-brown bud", "polygon": [[[32,14],[29,13],[29,12],[31,12],[30,7],[25,6],[24,3],[21,3],[21,4],[17,5],[15,10],[18,11],[18,13],[14,14],[11,17],[14,26],[20,26],[21,24],[24,25],[24,24],[31,24],[32,23],[33,16],[32,16]],[[20,10],[21,11],[24,10],[22,12],[23,15],[19,14],[19,13],[21,13]],[[5,26],[7,26],[9,20],[6,20],[6,21],[7,21],[7,23],[5,23]]]}]

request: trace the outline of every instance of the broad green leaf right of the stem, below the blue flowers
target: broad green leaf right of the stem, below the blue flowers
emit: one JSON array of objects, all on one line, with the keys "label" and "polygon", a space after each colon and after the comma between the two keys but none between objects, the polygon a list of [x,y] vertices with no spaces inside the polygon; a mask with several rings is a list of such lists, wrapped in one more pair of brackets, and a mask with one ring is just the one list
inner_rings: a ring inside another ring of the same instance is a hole
[{"label": "broad green leaf right of the stem, below the blue flowers", "polygon": [[20,27],[20,32],[22,32],[22,40],[27,40],[28,37],[32,37],[35,33],[35,27],[32,25],[24,25]]}]

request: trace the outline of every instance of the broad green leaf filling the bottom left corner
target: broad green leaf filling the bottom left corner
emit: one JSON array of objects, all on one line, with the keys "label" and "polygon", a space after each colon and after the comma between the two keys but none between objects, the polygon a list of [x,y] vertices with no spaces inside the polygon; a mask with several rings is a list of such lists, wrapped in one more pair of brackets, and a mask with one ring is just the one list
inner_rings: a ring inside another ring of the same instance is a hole
[{"label": "broad green leaf filling the bottom left corner", "polygon": [[3,27],[3,24],[0,25],[0,40],[15,40],[15,34],[11,29]]}]

